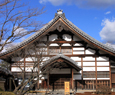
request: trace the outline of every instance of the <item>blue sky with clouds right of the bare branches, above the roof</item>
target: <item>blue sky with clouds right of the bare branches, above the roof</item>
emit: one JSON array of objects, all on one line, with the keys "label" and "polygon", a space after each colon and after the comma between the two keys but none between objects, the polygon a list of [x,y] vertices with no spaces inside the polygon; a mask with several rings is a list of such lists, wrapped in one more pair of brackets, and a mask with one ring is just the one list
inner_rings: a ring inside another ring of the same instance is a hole
[{"label": "blue sky with clouds right of the bare branches, above the roof", "polygon": [[115,0],[30,0],[29,5],[45,6],[46,12],[38,17],[43,23],[62,9],[68,20],[96,40],[115,43]]}]

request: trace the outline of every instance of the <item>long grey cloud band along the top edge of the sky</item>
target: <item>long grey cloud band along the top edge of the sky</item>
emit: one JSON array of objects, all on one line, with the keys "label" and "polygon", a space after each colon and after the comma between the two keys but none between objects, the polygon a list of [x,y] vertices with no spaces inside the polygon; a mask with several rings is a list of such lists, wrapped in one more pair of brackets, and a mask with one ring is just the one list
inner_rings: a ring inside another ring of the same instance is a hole
[{"label": "long grey cloud band along the top edge of the sky", "polygon": [[115,6],[115,0],[39,0],[39,2],[41,4],[50,2],[54,6],[76,4],[81,8],[113,8]]}]

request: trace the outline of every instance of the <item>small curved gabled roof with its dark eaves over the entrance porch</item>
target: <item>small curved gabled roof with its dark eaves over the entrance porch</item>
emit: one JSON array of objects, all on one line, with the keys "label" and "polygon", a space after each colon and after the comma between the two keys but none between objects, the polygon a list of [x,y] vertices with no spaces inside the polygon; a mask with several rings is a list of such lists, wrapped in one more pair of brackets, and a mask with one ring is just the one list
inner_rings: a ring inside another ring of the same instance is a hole
[{"label": "small curved gabled roof with its dark eaves over the entrance porch", "polygon": [[47,65],[50,64],[50,66],[53,64],[53,61],[57,60],[57,59],[64,59],[66,61],[68,61],[69,65],[73,66],[77,71],[80,71],[81,68],[77,65],[77,62],[75,62],[74,60],[70,59],[67,56],[64,56],[63,54],[58,54],[56,56],[53,56],[52,58],[50,58],[49,60],[45,61],[43,63],[43,66],[41,67],[41,70],[44,70],[45,68],[47,68]]}]

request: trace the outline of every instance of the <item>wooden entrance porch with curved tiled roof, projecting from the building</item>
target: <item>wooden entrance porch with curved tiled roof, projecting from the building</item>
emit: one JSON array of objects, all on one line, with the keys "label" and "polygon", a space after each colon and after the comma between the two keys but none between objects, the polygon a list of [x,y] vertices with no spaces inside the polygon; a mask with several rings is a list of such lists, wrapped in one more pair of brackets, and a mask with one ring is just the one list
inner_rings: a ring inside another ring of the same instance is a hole
[{"label": "wooden entrance porch with curved tiled roof, projecting from the building", "polygon": [[75,61],[67,56],[59,54],[52,57],[50,60],[44,63],[41,68],[44,72],[44,80],[42,80],[42,89],[51,90],[64,90],[64,82],[69,82],[70,89],[77,88],[74,85],[74,80],[81,79],[79,71],[81,68],[77,65]]}]

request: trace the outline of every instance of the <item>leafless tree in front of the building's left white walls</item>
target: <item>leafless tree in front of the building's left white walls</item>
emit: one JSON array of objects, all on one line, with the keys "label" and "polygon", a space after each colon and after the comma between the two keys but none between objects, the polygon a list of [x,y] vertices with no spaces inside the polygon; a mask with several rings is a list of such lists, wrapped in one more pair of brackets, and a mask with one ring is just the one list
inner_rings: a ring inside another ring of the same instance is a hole
[{"label": "leafless tree in front of the building's left white walls", "polygon": [[[44,56],[48,56],[48,52],[45,46],[39,46],[38,44],[40,44],[38,41],[33,44],[30,44],[23,50],[15,52],[15,54],[11,56],[11,58],[14,58],[13,61],[16,67],[18,67],[21,70],[20,76],[22,78],[22,81],[20,85],[16,86],[13,80],[15,86],[13,92],[16,95],[24,95],[27,91],[32,89],[34,85],[42,78],[44,72],[51,70],[51,66],[49,66],[44,71],[40,72],[40,66],[42,65]],[[17,57],[20,59],[29,58],[33,63],[33,65],[31,65],[28,68],[23,68],[24,66],[23,61],[22,62],[17,61]],[[30,74],[26,75],[28,70],[30,71]],[[26,81],[25,78],[27,79]],[[29,87],[26,90],[24,90],[27,84],[29,84]]]}]

